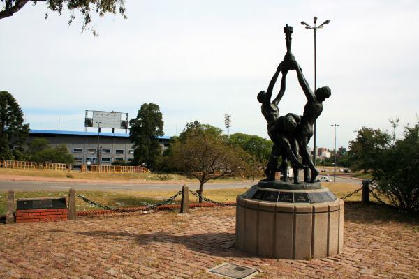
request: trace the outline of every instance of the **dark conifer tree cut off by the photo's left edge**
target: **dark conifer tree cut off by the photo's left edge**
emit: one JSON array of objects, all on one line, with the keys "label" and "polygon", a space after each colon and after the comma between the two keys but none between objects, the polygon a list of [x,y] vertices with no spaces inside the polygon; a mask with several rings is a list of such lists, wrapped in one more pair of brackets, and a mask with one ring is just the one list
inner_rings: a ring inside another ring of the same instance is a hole
[{"label": "dark conifer tree cut off by the photo's left edge", "polygon": [[0,91],[0,158],[22,160],[29,124],[23,123],[23,112],[13,96]]}]

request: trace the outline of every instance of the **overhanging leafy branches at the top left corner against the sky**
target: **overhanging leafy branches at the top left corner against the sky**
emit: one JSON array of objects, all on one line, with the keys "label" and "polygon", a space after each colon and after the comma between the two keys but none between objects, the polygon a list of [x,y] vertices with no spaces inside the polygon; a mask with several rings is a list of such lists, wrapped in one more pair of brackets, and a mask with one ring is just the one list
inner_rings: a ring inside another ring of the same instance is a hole
[{"label": "overhanging leafy branches at the top left corner against the sky", "polygon": [[[116,14],[118,12],[122,17],[126,18],[124,0],[0,0],[0,20],[14,15],[28,2],[36,4],[38,1],[46,2],[47,10],[59,15],[62,14],[63,10],[71,11],[68,24],[71,24],[75,19],[74,12],[80,12],[83,20],[82,31],[87,29],[91,23],[92,12],[98,13],[99,17],[103,17],[106,13]],[[47,17],[48,13],[45,13],[45,18]],[[92,31],[96,36],[96,31],[94,29]]]}]

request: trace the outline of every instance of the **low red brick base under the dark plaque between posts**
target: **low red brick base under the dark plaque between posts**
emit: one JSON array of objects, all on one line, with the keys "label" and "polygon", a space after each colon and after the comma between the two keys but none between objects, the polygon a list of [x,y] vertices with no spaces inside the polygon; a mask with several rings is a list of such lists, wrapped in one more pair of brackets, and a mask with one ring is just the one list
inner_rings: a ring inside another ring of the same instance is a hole
[{"label": "low red brick base under the dark plaque between posts", "polygon": [[27,209],[16,211],[16,223],[66,221],[67,209]]}]

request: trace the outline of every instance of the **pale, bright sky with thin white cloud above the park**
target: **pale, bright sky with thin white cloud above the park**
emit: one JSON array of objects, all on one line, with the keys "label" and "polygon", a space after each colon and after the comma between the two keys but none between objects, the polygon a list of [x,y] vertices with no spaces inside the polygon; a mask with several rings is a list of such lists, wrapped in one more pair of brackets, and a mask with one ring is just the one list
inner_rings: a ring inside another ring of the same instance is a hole
[{"label": "pale, bright sky with thin white cloud above the park", "polygon": [[[84,130],[85,110],[131,119],[143,103],[156,103],[168,136],[195,120],[227,133],[227,113],[230,133],[267,138],[256,95],[284,58],[286,24],[314,88],[314,33],[300,24],[314,16],[330,20],[317,32],[317,84],[332,89],[317,146],[333,148],[334,123],[337,146],[347,147],[362,126],[390,130],[388,119],[399,118],[401,135],[417,121],[416,0],[126,0],[126,20],[94,17],[97,37],[82,33],[78,20],[68,26],[68,12],[45,20],[46,12],[38,2],[0,20],[0,90],[15,97],[32,129]],[[302,114],[306,101],[288,73],[281,115]]]}]

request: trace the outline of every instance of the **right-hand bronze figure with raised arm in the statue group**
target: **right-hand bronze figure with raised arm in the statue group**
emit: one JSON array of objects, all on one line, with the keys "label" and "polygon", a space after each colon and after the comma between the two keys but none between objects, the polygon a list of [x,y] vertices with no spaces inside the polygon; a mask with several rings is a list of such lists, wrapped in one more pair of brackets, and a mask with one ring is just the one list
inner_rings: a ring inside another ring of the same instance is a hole
[{"label": "right-hand bronze figure with raised arm in the statue group", "polygon": [[304,181],[305,182],[315,182],[316,176],[318,176],[318,171],[314,167],[313,161],[310,158],[309,151],[307,149],[307,144],[309,143],[310,138],[313,136],[313,125],[318,116],[320,116],[323,111],[323,101],[330,97],[331,91],[328,86],[321,87],[316,89],[316,92],[311,91],[310,86],[302,74],[302,69],[298,65],[297,61],[292,61],[292,67],[297,71],[298,82],[304,94],[307,98],[307,103],[304,105],[304,112],[301,118],[300,126],[297,128],[297,141],[300,145],[300,155],[302,157],[302,163],[308,165],[311,171],[311,179],[307,169],[304,169]]}]

